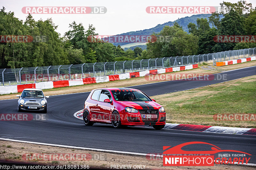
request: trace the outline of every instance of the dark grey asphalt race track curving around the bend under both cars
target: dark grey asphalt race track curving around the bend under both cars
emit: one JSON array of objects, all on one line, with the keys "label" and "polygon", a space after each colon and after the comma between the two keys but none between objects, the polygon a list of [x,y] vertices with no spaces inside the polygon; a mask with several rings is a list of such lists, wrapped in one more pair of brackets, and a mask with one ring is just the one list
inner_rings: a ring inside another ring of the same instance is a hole
[{"label": "dark grey asphalt race track curving around the bend under both cars", "polygon": [[[227,81],[256,74],[256,66],[219,73],[227,74]],[[198,88],[213,81],[164,81],[160,83],[133,86],[149,96]],[[118,86],[118,84],[116,85]],[[256,163],[256,137],[247,135],[215,134],[176,130],[154,130],[144,127],[114,129],[111,125],[94,124],[84,126],[82,120],[73,114],[83,109],[89,92],[50,96],[46,120],[1,121],[0,138],[9,138],[49,144],[99,148],[138,153],[162,153],[163,146],[175,146],[185,142],[202,141],[227,150],[238,150],[252,154],[249,163]],[[20,113],[17,99],[1,100],[0,113]],[[36,113],[32,113],[36,114]],[[188,150],[209,150],[208,146]]]}]

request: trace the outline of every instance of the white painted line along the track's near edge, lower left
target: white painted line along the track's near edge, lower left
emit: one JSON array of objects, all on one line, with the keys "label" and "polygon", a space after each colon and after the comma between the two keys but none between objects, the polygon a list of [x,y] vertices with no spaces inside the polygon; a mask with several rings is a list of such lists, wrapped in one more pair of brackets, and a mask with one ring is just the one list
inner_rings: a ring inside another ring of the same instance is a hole
[{"label": "white painted line along the track's near edge, lower left", "polygon": [[85,149],[85,150],[92,150],[92,151],[124,153],[124,154],[130,154],[130,155],[142,155],[142,156],[146,156],[147,155],[146,153],[114,151],[114,150],[107,150],[107,149],[85,148],[85,147],[68,146],[68,145],[56,145],[56,144],[47,144],[47,143],[40,143],[40,142],[30,142],[30,141],[6,139],[6,138],[0,138],[0,140],[7,140],[7,141],[13,141],[13,142],[23,142],[23,143],[38,144],[38,145],[58,146],[58,147],[65,147],[65,148]]}]

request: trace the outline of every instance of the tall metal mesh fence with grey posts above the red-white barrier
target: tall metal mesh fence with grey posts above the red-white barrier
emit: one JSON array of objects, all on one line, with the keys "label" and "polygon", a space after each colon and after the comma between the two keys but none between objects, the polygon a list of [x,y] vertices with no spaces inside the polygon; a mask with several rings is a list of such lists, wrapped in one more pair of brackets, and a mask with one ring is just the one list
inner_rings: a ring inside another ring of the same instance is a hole
[{"label": "tall metal mesh fence with grey posts above the red-white barrier", "polygon": [[[44,67],[22,67],[0,69],[0,85],[24,84],[41,81],[68,80],[94,77],[131,71],[140,71],[162,67],[195,64],[213,60],[216,62],[254,56],[256,48],[229,50],[218,53],[164,57],[142,60],[126,60],[101,63],[83,63],[77,65],[59,65]],[[35,78],[36,77],[36,78]]]}]

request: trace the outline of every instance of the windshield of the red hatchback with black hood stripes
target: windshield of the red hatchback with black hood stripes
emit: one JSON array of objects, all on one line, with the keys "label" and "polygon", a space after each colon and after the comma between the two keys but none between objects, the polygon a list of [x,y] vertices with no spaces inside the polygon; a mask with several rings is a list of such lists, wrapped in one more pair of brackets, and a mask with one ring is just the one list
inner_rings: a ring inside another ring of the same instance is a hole
[{"label": "windshield of the red hatchback with black hood stripes", "polygon": [[111,90],[116,101],[151,101],[139,90]]}]

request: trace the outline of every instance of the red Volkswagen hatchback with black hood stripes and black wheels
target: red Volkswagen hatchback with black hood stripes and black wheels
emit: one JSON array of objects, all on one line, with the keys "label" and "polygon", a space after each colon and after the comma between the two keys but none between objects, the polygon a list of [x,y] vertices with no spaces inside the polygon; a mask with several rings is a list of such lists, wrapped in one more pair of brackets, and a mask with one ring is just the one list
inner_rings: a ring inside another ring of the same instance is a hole
[{"label": "red Volkswagen hatchback with black hood stripes and black wheels", "polygon": [[83,120],[86,126],[94,123],[121,125],[149,125],[163,129],[166,122],[164,107],[138,89],[94,89],[84,102]]}]

